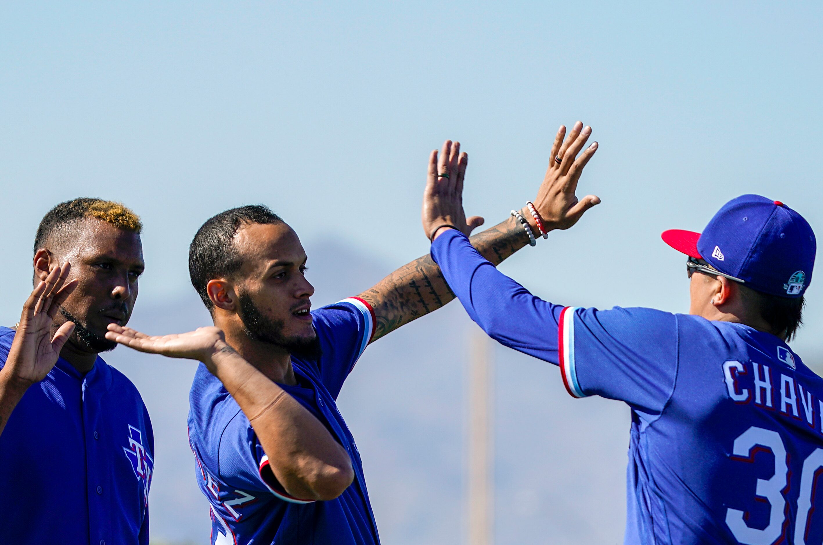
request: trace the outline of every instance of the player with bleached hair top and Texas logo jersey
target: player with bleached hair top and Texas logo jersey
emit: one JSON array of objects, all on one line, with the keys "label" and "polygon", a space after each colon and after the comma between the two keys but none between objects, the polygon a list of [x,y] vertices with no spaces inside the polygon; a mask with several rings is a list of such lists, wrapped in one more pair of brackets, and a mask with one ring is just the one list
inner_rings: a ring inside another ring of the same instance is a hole
[{"label": "player with bleached hair top and Texas logo jersey", "polygon": [[141,228],[98,198],[40,222],[35,291],[16,329],[0,328],[0,543],[149,543],[151,421],[100,358],[117,346],[107,326],[126,324],[137,299]]}]

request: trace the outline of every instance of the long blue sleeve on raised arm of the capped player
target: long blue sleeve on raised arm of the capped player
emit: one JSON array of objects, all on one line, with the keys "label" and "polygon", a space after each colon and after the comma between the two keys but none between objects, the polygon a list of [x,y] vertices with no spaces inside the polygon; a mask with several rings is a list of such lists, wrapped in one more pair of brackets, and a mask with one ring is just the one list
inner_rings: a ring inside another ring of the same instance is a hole
[{"label": "long blue sleeve on raised arm of the capped player", "polygon": [[597,394],[644,412],[663,410],[677,372],[674,314],[552,304],[498,271],[456,230],[439,235],[431,257],[491,338],[559,365],[574,397]]}]

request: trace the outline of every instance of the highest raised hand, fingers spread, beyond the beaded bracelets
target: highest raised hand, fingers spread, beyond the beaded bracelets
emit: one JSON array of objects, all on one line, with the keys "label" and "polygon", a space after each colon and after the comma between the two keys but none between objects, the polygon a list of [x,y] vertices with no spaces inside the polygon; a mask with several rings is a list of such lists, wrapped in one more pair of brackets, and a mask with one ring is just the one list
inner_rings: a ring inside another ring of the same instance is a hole
[{"label": "highest raised hand, fingers spread, beyond the beaded bracelets", "polygon": [[[578,156],[592,134],[592,128],[584,127],[578,121],[564,140],[565,130],[564,126],[560,126],[557,131],[555,143],[551,147],[549,168],[537,191],[537,198],[534,199],[534,207],[547,231],[568,229],[577,223],[584,212],[600,203],[600,198],[594,195],[586,195],[579,200],[574,194],[586,163],[597,151],[597,142],[593,142]],[[531,223],[532,217],[528,209],[525,209],[523,216]]]}]

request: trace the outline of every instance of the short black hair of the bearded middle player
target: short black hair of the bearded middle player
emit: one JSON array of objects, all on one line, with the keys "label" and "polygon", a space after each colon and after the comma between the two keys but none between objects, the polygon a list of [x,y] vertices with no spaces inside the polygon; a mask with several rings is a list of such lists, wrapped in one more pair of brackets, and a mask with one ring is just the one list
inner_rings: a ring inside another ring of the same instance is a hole
[{"label": "short black hair of the bearded middle player", "polygon": [[209,218],[188,247],[188,276],[208,310],[214,308],[206,286],[214,278],[230,277],[243,266],[235,245],[237,230],[244,225],[283,223],[268,207],[253,204],[231,208]]}]

